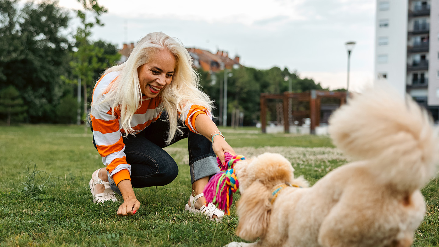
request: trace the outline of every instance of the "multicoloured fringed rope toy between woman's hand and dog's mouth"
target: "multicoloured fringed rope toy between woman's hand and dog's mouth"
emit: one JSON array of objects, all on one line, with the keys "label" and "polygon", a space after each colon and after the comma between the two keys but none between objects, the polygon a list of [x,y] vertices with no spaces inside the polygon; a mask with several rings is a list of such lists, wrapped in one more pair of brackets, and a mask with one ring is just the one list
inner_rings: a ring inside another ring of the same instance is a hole
[{"label": "multicoloured fringed rope toy between woman's hand and dog's mouth", "polygon": [[203,194],[206,199],[206,205],[213,203],[219,209],[224,210],[227,215],[230,215],[229,208],[233,203],[233,193],[239,189],[239,182],[233,166],[238,160],[245,160],[245,157],[224,153],[224,158],[226,161],[221,163],[218,156],[216,156],[220,172],[210,178],[209,183],[203,190]]}]

